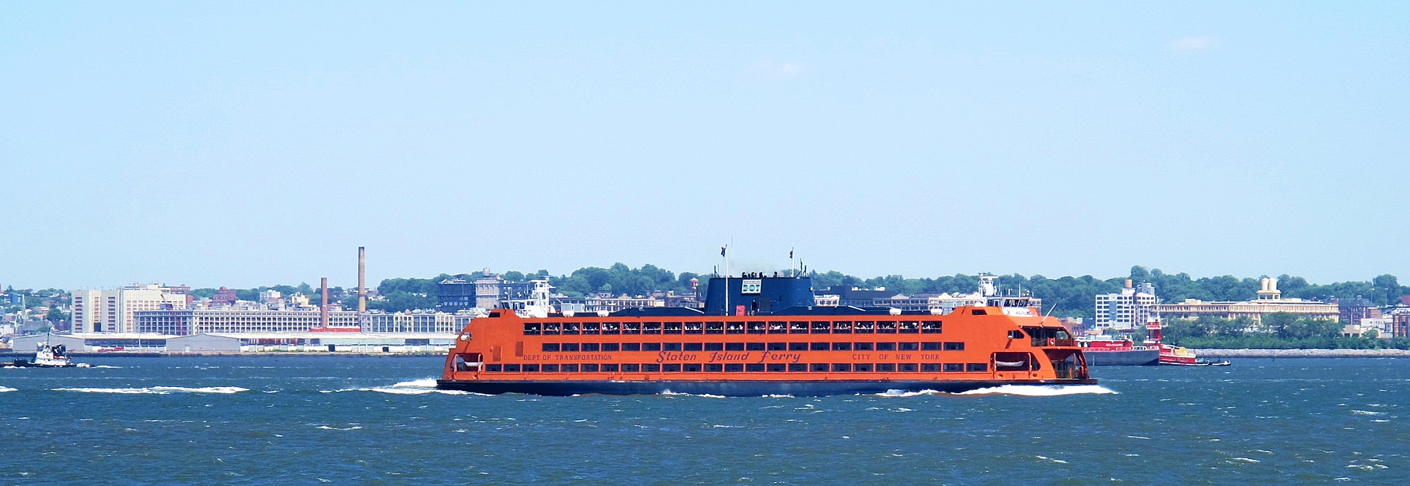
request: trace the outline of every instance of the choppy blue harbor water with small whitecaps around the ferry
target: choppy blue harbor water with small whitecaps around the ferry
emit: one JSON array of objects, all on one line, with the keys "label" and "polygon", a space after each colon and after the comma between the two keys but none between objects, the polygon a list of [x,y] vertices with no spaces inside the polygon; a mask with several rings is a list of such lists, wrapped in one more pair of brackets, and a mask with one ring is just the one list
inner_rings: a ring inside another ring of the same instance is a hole
[{"label": "choppy blue harbor water with small whitecaps around the ferry", "polygon": [[80,361],[103,366],[0,369],[0,483],[1410,483],[1403,358],[823,399],[439,392],[439,358]]}]

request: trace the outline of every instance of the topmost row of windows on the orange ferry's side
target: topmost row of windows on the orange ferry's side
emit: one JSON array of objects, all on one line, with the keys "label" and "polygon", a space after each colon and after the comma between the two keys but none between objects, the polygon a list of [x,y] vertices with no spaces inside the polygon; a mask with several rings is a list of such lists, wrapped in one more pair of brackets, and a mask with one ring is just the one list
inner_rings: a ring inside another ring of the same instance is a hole
[{"label": "topmost row of windows on the orange ferry's side", "polygon": [[940,321],[526,323],[525,335],[940,334]]}]

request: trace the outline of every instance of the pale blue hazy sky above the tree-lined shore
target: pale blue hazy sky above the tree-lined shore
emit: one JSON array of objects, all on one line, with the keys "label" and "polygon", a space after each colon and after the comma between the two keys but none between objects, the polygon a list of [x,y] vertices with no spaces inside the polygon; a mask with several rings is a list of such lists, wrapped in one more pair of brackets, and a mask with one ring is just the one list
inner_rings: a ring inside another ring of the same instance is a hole
[{"label": "pale blue hazy sky above the tree-lined shore", "polygon": [[0,7],[0,285],[1410,279],[1410,3]]}]

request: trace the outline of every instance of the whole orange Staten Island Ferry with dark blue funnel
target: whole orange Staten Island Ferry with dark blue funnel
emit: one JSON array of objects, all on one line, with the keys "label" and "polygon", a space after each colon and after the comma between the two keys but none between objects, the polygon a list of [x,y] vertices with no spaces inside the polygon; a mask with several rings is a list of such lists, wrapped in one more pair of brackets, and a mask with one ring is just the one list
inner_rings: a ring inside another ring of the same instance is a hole
[{"label": "whole orange Staten Island Ferry with dark blue funnel", "polygon": [[477,393],[721,396],[964,392],[1091,385],[1081,348],[1022,296],[986,289],[949,314],[814,306],[812,280],[711,279],[705,310],[551,313],[534,300],[472,320],[446,356],[440,389]]}]

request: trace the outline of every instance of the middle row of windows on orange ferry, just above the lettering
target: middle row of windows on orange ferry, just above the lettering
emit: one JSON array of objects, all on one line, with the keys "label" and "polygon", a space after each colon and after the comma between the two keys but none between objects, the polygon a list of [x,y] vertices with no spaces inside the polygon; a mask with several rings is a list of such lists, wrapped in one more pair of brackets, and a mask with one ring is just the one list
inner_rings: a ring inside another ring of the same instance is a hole
[{"label": "middle row of windows on orange ferry, just above the lettering", "polygon": [[543,352],[615,351],[964,351],[964,342],[544,342]]}]

